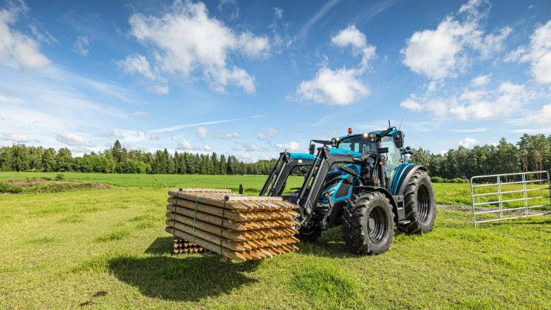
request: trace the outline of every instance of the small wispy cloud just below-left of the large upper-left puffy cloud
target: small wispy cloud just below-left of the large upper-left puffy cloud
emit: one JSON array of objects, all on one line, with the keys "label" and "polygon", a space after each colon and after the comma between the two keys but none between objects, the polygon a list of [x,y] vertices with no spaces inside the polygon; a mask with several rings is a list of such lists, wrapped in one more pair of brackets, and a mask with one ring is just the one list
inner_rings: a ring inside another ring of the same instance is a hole
[{"label": "small wispy cloud just below-left of the large upper-left puffy cloud", "polygon": [[168,94],[169,87],[166,79],[160,76],[158,69],[153,68],[145,56],[132,54],[122,61],[117,61],[118,68],[121,68],[126,74],[140,75],[145,78],[143,85],[147,89],[157,94]]}]

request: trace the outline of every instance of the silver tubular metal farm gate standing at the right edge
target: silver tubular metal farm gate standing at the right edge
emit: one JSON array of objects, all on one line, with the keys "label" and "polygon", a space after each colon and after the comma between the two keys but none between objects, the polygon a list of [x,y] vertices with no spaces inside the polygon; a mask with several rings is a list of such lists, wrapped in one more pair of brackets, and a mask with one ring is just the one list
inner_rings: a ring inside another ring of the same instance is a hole
[{"label": "silver tubular metal farm gate standing at the right edge", "polygon": [[[537,196],[531,195],[532,192],[535,192]],[[472,202],[472,223],[475,228],[480,223],[549,215],[551,214],[549,172],[473,176],[470,178],[470,200]],[[542,201],[543,203],[541,203]],[[517,205],[510,207],[510,203]],[[477,209],[477,206],[480,205],[491,205],[492,208]],[[539,209],[532,210],[535,208]],[[503,213],[506,213],[505,216]],[[477,220],[479,214],[488,216]],[[494,218],[491,218],[490,215]]]}]

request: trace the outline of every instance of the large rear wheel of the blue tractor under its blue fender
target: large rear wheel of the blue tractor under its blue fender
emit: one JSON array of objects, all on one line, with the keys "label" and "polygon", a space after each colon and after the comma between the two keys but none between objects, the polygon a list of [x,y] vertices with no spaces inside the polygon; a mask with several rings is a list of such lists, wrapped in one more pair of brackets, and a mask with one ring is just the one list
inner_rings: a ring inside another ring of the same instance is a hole
[{"label": "large rear wheel of the blue tractor under its blue fender", "polygon": [[398,225],[406,234],[426,234],[433,230],[436,219],[436,201],[430,176],[417,170],[408,180],[404,191],[404,209],[408,224]]}]

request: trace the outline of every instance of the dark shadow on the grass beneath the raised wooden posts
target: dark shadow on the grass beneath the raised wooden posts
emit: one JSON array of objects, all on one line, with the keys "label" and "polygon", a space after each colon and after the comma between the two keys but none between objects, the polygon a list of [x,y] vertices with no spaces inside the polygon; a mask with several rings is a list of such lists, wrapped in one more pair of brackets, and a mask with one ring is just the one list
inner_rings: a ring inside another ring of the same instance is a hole
[{"label": "dark shadow on the grass beneath the raised wooden posts", "polygon": [[258,260],[224,262],[219,255],[153,256],[114,258],[108,267],[116,278],[137,287],[145,296],[198,301],[256,282],[244,273],[255,270],[259,263]]}]

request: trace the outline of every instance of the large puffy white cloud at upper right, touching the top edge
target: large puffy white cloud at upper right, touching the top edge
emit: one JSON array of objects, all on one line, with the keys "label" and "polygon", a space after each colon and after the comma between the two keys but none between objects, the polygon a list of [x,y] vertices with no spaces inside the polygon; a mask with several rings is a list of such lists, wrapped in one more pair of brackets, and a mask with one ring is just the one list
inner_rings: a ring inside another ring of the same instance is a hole
[{"label": "large puffy white cloud at upper right, touching the top edge", "polygon": [[467,70],[472,52],[487,59],[493,52],[502,50],[503,41],[512,30],[502,28],[497,34],[485,35],[481,19],[487,17],[488,9],[488,1],[470,0],[461,6],[457,16],[446,17],[435,30],[414,32],[406,41],[406,48],[400,51],[404,55],[403,63],[430,79],[446,79]]}]

